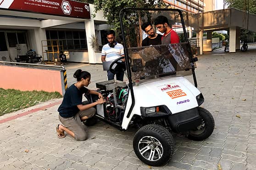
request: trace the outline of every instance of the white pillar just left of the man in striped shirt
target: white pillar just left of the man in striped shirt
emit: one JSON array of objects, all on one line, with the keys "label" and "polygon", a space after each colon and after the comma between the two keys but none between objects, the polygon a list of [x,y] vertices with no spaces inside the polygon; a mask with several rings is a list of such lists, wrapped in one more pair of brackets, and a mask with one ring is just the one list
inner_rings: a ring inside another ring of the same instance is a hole
[{"label": "white pillar just left of the man in striped shirt", "polygon": [[92,48],[90,43],[91,37],[95,36],[94,20],[91,18],[90,20],[84,21],[84,26],[85,26],[85,32],[86,32],[89,64],[96,64],[95,50]]}]

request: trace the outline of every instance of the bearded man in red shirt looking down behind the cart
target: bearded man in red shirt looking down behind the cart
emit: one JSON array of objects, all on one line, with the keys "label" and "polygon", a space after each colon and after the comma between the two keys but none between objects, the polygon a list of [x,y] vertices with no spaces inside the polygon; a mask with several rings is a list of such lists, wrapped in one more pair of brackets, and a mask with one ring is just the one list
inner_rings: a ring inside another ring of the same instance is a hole
[{"label": "bearded man in red shirt looking down behind the cart", "polygon": [[178,34],[169,26],[167,17],[157,16],[154,24],[159,32],[164,33],[161,39],[162,44],[179,43]]}]

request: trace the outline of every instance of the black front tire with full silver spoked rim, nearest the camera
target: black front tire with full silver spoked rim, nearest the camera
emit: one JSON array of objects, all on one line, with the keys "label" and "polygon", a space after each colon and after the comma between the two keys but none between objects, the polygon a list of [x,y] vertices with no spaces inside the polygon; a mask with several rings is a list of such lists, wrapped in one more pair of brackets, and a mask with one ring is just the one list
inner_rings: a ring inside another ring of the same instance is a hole
[{"label": "black front tire with full silver spoked rim, nearest the camera", "polygon": [[161,166],[173,157],[173,141],[171,133],[161,125],[145,125],[134,136],[134,152],[146,165]]}]

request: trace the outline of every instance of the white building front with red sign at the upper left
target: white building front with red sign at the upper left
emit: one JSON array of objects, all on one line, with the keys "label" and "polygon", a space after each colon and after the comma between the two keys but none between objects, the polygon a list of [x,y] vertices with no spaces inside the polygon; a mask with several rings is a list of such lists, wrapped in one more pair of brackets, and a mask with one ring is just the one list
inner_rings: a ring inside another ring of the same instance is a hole
[{"label": "white building front with red sign at the upper left", "polygon": [[108,25],[93,11],[94,5],[72,0],[0,0],[0,61],[16,62],[33,49],[45,61],[64,51],[70,62],[101,63],[90,42],[95,36],[105,43],[100,35]]}]

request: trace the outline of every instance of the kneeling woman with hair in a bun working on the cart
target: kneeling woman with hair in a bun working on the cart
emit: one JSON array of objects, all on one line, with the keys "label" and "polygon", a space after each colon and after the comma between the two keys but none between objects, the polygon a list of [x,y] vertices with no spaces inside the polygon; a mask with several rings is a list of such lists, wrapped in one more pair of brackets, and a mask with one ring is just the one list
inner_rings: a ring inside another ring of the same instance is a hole
[{"label": "kneeling woman with hair in a bun working on the cart", "polygon": [[[74,78],[78,82],[67,89],[61,106],[58,108],[59,120],[63,125],[58,124],[56,126],[57,137],[64,138],[64,132],[66,132],[76,140],[86,140],[87,133],[83,128],[83,121],[93,117],[96,112],[94,106],[104,103],[104,100],[99,92],[86,88],[91,80],[89,72],[78,69],[74,73]],[[98,95],[99,99],[94,103],[83,105],[84,93]]]}]

